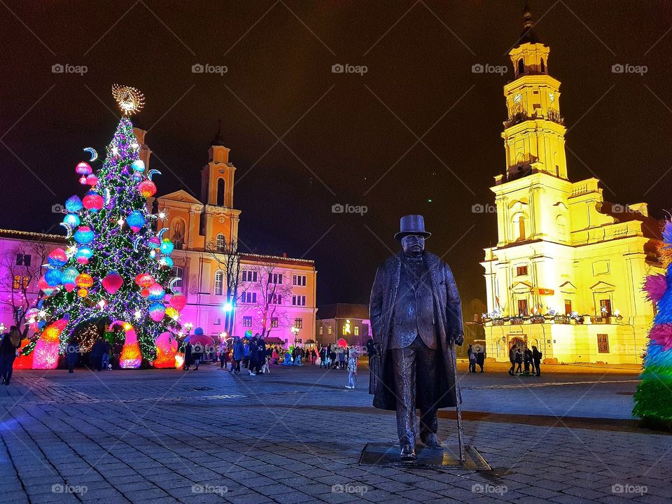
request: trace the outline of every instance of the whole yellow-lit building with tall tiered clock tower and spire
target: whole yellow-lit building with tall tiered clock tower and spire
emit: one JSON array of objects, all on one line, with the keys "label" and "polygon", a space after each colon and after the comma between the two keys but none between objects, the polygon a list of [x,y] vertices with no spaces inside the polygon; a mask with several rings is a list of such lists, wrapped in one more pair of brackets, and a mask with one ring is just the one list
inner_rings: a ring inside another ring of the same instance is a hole
[{"label": "whole yellow-lit building with tall tiered clock tower and spire", "polygon": [[560,82],[528,10],[509,55],[505,172],[491,187],[497,244],[481,262],[487,356],[535,345],[546,362],[640,363],[654,317],[641,288],[662,272],[659,223],[645,203],[606,202],[598,179],[568,178]]}]

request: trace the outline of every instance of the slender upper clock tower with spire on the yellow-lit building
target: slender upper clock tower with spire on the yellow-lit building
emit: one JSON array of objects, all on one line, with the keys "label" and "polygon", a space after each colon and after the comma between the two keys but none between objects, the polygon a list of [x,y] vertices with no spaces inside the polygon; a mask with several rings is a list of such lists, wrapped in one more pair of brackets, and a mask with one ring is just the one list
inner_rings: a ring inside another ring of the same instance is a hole
[{"label": "slender upper clock tower with spire on the yellow-lit building", "polygon": [[523,32],[509,51],[514,80],[504,86],[505,180],[546,172],[567,180],[564,120],[560,116],[560,82],[548,74],[549,48],[534,31],[525,5]]}]

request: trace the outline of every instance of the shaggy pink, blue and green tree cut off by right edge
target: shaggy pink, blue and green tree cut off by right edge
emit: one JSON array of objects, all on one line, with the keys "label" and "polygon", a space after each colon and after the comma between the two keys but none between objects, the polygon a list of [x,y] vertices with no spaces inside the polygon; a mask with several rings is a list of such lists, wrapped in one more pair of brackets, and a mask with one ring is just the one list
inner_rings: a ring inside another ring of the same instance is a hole
[{"label": "shaggy pink, blue and green tree cut off by right edge", "polygon": [[647,276],[644,289],[657,305],[653,327],[644,356],[641,381],[635,393],[633,415],[643,424],[672,430],[672,222],[663,230],[663,246],[659,249],[666,274]]}]

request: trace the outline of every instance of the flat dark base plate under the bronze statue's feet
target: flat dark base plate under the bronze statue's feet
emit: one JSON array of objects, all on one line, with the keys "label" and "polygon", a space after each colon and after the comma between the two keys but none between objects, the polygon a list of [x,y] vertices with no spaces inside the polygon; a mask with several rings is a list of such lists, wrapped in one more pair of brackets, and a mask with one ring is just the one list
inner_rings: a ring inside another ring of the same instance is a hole
[{"label": "flat dark base plate under the bronze statue's feet", "polygon": [[412,467],[429,469],[462,469],[489,471],[490,465],[479,454],[475,447],[465,444],[465,460],[460,461],[460,450],[457,442],[443,442],[442,450],[426,448],[423,444],[416,444],[417,458],[413,462],[399,459],[399,443],[370,442],[365,444],[359,458],[360,465],[381,465],[393,467]]}]

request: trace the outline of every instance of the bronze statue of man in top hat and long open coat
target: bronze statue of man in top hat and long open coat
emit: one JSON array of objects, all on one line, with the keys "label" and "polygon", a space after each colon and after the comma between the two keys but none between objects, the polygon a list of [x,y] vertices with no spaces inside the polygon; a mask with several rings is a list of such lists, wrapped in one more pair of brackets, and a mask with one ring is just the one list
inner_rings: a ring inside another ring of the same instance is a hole
[{"label": "bronze statue of man in top hat and long open coat", "polygon": [[371,290],[370,320],[380,348],[373,405],[397,412],[402,461],[414,461],[416,408],[420,440],[442,449],[437,440],[437,410],[455,407],[454,344],[464,340],[457,286],[448,265],[424,250],[423,217],[401,218],[394,235],[403,251],[378,268]]}]

